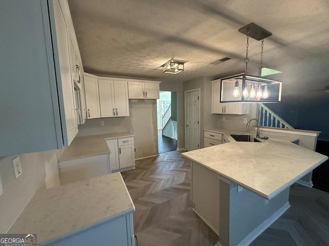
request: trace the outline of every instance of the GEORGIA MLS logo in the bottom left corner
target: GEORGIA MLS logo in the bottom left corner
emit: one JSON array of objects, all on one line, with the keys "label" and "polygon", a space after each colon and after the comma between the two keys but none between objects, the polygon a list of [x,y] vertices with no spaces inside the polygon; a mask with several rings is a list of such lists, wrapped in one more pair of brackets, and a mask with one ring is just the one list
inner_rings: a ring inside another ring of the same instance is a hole
[{"label": "GEORGIA MLS logo in the bottom left corner", "polygon": [[36,234],[0,234],[0,246],[34,246]]}]

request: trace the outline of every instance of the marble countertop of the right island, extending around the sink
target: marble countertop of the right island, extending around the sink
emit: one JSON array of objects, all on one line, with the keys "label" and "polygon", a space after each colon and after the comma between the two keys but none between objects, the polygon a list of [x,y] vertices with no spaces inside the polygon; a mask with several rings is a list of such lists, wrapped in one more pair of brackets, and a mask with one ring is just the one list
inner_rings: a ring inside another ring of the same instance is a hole
[{"label": "marble countertop of the right island, extending around the sink", "polygon": [[296,138],[237,142],[228,134],[237,133],[235,130],[214,132],[223,133],[230,142],[181,155],[266,199],[276,196],[328,159],[290,142]]}]

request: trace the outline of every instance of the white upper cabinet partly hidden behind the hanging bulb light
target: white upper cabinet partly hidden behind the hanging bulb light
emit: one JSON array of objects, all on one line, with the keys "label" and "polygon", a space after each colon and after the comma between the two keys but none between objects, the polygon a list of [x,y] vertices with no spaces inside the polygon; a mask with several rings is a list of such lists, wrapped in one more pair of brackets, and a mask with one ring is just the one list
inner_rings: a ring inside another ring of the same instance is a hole
[{"label": "white upper cabinet partly hidden behind the hanging bulb light", "polygon": [[248,114],[249,104],[242,103],[220,103],[221,80],[216,79],[212,83],[212,114]]}]

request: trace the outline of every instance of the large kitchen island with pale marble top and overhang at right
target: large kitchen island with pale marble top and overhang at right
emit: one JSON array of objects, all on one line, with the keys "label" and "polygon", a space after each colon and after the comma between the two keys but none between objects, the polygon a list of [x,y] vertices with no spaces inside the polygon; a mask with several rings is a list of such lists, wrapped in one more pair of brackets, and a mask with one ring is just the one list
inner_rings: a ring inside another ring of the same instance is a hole
[{"label": "large kitchen island with pale marble top and overhang at right", "polygon": [[248,245],[289,207],[289,187],[328,157],[288,141],[235,142],[182,153],[194,211],[216,245]]}]

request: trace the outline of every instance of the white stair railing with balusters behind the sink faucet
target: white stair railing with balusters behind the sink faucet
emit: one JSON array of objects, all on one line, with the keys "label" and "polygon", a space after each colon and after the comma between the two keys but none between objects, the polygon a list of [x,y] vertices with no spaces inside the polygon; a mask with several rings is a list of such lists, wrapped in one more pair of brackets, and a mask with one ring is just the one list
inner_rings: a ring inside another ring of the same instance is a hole
[{"label": "white stair railing with balusters behind the sink faucet", "polygon": [[294,129],[279,115],[267,108],[264,104],[259,104],[258,119],[260,121],[260,125],[263,127]]}]

